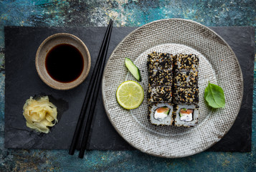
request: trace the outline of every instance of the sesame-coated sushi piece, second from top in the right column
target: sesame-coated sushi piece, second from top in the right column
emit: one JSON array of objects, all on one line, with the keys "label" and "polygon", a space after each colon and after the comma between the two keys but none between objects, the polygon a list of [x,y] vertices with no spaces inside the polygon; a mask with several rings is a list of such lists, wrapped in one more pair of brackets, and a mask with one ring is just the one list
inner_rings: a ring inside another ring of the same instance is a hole
[{"label": "sesame-coated sushi piece, second from top in the right column", "polygon": [[197,71],[176,71],[174,72],[174,86],[194,87],[198,85]]}]

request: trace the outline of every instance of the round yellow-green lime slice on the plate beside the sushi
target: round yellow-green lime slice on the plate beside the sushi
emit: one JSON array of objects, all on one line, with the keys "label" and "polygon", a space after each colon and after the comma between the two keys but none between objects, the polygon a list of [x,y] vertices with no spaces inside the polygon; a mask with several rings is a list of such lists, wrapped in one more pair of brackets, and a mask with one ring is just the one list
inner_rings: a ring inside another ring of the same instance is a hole
[{"label": "round yellow-green lime slice on the plate beside the sushi", "polygon": [[144,98],[143,88],[135,81],[125,81],[116,90],[116,98],[125,109],[138,108]]}]

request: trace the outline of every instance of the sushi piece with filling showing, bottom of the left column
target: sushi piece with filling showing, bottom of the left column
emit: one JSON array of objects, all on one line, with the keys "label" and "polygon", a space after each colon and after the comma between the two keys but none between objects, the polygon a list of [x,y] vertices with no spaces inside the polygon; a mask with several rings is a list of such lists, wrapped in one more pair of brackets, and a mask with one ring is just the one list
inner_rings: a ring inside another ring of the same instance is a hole
[{"label": "sushi piece with filling showing, bottom of the left column", "polygon": [[174,106],[170,103],[152,103],[148,106],[150,122],[153,125],[171,125],[174,122]]}]

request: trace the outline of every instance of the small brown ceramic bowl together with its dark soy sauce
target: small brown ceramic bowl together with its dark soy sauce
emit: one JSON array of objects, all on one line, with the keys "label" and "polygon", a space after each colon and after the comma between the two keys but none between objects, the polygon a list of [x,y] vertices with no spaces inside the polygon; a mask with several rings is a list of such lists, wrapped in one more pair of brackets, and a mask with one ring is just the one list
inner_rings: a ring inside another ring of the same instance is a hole
[{"label": "small brown ceramic bowl together with its dark soy sauce", "polygon": [[90,72],[90,52],[73,34],[58,33],[44,39],[35,57],[37,74],[56,90],[70,90],[82,84]]}]

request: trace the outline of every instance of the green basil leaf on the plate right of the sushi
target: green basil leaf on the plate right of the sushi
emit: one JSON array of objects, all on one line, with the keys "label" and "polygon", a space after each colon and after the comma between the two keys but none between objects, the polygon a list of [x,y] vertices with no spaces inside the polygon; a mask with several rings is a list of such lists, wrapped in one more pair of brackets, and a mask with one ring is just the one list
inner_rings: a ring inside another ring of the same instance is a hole
[{"label": "green basil leaf on the plate right of the sushi", "polygon": [[204,99],[212,108],[224,108],[225,106],[225,96],[222,87],[210,82],[204,90]]}]

